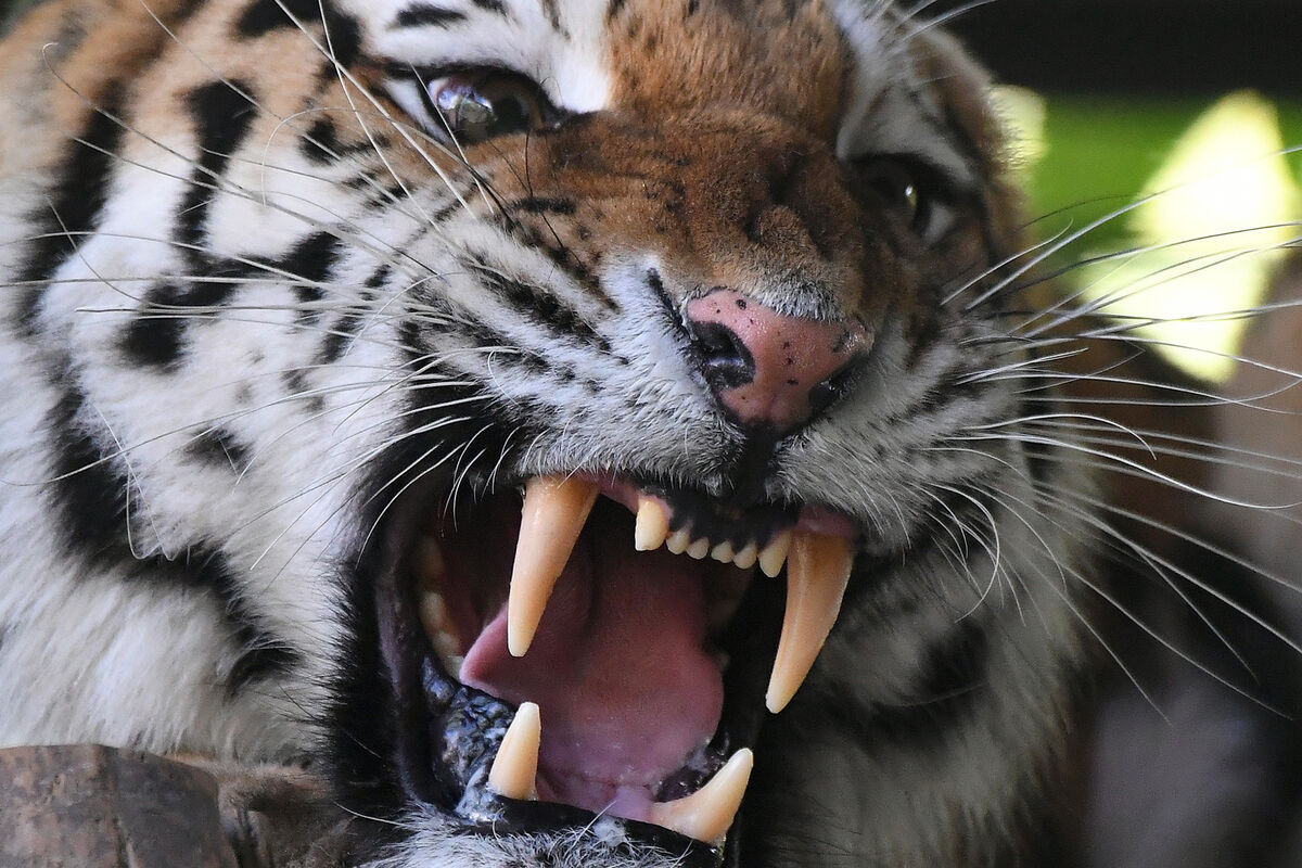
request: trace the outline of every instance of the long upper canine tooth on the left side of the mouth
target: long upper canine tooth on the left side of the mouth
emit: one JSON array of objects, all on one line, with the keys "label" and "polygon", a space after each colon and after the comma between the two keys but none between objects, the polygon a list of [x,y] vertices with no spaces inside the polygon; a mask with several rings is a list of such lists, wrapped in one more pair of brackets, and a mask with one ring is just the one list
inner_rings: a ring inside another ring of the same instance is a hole
[{"label": "long upper canine tooth on the left side of the mouth", "polygon": [[533,644],[547,600],[583,532],[596,495],[596,485],[572,476],[529,480],[506,600],[506,647],[512,656],[523,657]]}]

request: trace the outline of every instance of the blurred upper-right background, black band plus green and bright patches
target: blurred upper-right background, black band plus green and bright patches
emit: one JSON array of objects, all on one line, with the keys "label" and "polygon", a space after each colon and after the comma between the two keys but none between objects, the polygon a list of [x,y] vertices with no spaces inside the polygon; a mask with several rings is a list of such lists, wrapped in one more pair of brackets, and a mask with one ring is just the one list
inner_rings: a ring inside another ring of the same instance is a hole
[{"label": "blurred upper-right background, black band plus green and bright patches", "polygon": [[947,20],[1013,86],[1006,116],[1035,234],[1116,213],[1057,256],[1086,263],[1068,275],[1086,302],[1122,321],[1163,319],[1141,334],[1225,376],[1247,323],[1234,312],[1262,303],[1299,237],[1298,0],[914,8]]}]

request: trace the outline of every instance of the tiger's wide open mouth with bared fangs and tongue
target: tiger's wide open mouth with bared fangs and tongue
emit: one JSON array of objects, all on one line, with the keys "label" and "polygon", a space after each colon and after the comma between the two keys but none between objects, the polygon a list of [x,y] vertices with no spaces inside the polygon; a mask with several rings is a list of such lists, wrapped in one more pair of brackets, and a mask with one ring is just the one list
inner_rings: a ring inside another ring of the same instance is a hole
[{"label": "tiger's wide open mouth with bared fangs and tongue", "polygon": [[[497,833],[600,819],[630,842],[716,855],[760,703],[779,712],[803,683],[855,537],[827,510],[591,475],[443,505],[406,534],[379,609],[408,786]],[[753,600],[784,575],[773,655],[776,612]],[[738,635],[768,638],[767,690],[733,677],[755,648]]]}]

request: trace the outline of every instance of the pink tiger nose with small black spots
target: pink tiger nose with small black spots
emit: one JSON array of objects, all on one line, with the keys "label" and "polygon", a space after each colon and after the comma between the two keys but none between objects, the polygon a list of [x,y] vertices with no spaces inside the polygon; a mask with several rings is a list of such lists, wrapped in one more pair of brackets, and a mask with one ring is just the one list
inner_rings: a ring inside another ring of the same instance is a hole
[{"label": "pink tiger nose with small black spots", "polygon": [[747,427],[799,428],[836,396],[832,383],[867,353],[853,320],[788,316],[730,289],[687,305],[697,363],[715,397]]}]

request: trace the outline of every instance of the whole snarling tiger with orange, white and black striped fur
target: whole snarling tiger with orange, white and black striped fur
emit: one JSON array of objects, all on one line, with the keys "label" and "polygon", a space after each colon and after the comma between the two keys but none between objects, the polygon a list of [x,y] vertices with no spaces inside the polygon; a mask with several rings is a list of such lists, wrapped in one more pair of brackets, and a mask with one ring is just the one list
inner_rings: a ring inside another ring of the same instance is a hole
[{"label": "whole snarling tiger with orange, white and black striped fur", "polygon": [[311,776],[320,864],[1126,864],[1152,590],[1284,634],[919,5],[17,13],[0,744]]}]

